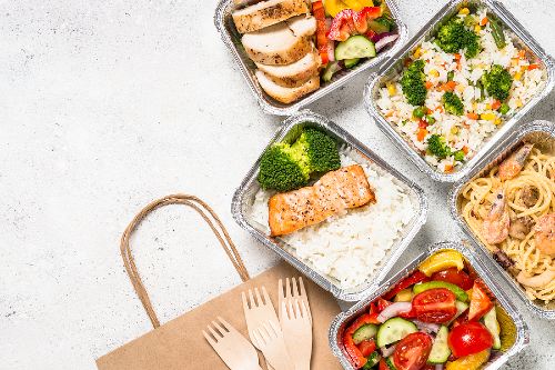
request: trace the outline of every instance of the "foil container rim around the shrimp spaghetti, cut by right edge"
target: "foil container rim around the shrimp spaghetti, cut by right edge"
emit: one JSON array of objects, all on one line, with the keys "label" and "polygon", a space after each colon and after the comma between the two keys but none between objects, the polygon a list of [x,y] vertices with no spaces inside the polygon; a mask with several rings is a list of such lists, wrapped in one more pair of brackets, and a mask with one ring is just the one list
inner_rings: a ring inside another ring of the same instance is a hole
[{"label": "foil container rim around the shrimp spaghetti, cut by right edge", "polygon": [[541,148],[546,148],[555,152],[555,124],[548,121],[534,121],[532,123],[524,124],[517,132],[508,134],[505,139],[500,141],[498,147],[488,156],[484,157],[475,169],[461,179],[461,181],[458,181],[452,189],[450,196],[451,216],[464,230],[466,236],[468,236],[468,238],[472,239],[476,246],[478,246],[487,258],[493,261],[496,272],[498,272],[498,274],[502,276],[511,287],[513,287],[513,290],[524,301],[526,307],[541,318],[555,320],[555,301],[552,301],[548,304],[542,303],[538,300],[531,301],[526,297],[524,288],[521,287],[511,273],[505,271],[497,262],[495,262],[492,252],[480,241],[477,236],[474,234],[461,213],[461,193],[466,184],[475,178],[487,174],[493,167],[500,164],[516,148],[518,148],[523,141],[535,143]]}]

